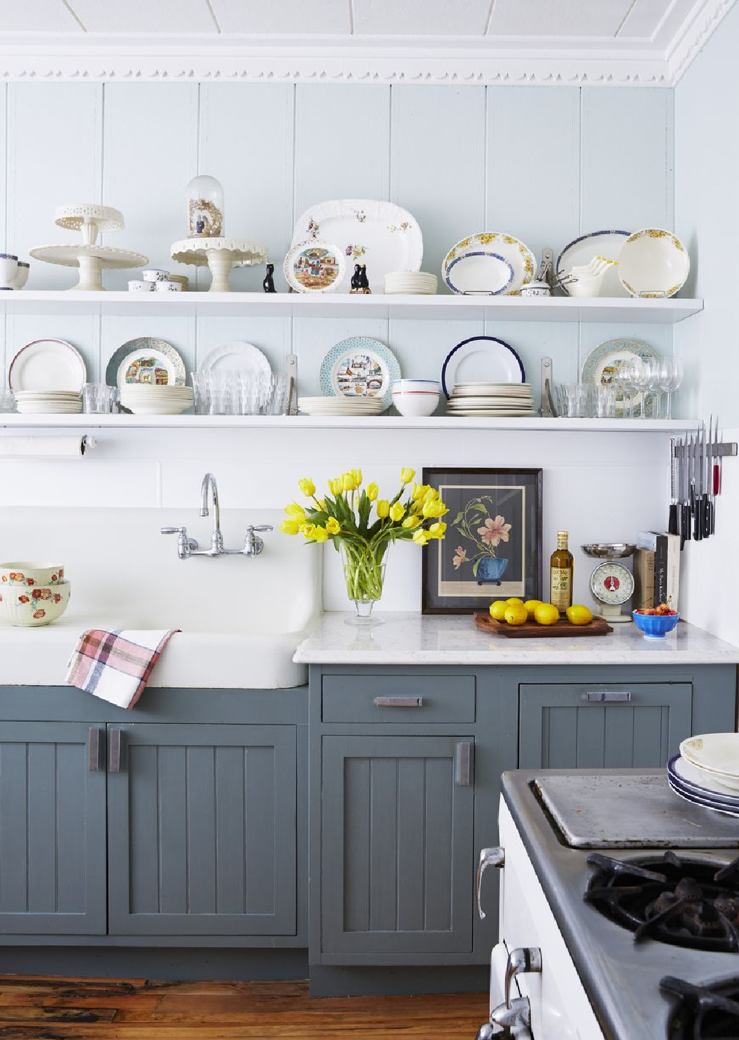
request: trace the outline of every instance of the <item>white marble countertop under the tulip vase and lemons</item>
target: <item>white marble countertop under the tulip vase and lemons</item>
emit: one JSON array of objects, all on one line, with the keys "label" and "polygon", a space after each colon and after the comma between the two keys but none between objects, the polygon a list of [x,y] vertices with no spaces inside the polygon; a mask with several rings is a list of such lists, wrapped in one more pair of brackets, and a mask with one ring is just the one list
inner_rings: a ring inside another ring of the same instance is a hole
[{"label": "white marble countertop under the tulip vase and lemons", "polygon": [[731,665],[739,647],[680,622],[664,640],[646,640],[636,625],[607,635],[509,640],[475,627],[472,616],[379,614],[371,627],[353,615],[324,614],[298,646],[301,665]]}]

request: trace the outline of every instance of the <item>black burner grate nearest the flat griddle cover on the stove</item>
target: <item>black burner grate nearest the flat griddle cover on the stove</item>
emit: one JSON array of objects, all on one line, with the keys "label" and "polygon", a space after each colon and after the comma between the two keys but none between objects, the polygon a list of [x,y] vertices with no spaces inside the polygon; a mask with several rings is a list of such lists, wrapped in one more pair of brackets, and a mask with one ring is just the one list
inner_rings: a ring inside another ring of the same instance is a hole
[{"label": "black burner grate nearest the flat griddle cover on the stove", "polygon": [[721,865],[672,852],[627,861],[593,853],[588,863],[596,869],[585,902],[630,929],[635,941],[739,952],[739,858]]}]

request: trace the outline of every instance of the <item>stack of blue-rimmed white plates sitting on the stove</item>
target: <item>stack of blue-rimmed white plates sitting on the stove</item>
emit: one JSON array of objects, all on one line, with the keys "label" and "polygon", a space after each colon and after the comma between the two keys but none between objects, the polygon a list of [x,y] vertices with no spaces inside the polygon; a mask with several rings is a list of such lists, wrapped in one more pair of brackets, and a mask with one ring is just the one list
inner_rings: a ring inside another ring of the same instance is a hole
[{"label": "stack of blue-rimmed white plates sitting on the stove", "polygon": [[739,816],[739,733],[689,736],[667,762],[667,782],[680,798]]}]

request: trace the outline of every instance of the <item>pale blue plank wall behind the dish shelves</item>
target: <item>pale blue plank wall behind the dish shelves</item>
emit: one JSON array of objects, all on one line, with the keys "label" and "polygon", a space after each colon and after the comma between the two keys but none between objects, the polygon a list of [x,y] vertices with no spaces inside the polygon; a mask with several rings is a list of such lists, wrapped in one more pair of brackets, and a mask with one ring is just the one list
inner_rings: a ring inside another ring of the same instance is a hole
[{"label": "pale blue plank wall behind the dish shelves", "polygon": [[[169,248],[185,234],[185,186],[200,171],[224,184],[227,234],[265,241],[278,272],[297,216],[340,197],[406,206],[424,231],[424,267],[438,272],[447,250],[476,230],[507,231],[539,254],[598,228],[671,227],[672,123],[672,92],[661,88],[9,83],[0,86],[0,230],[27,256],[77,237],[54,226],[56,205],[102,201],[126,219],[108,244],[172,266]],[[181,270],[207,284],[205,271]],[[235,271],[233,286],[256,289],[262,275]],[[112,271],[105,282],[124,288],[129,277]],[[73,280],[69,269],[33,263],[28,285]],[[275,367],[295,349],[305,393],[317,389],[326,349],[362,333],[387,342],[404,374],[417,376],[437,376],[462,338],[500,336],[537,389],[543,354],[565,381],[604,339],[641,336],[664,352],[672,343],[660,326],[83,314],[8,316],[1,332],[4,368],[24,342],[53,335],[79,347],[93,378],[133,336],[163,336],[188,367],[216,343],[247,339]]]}]

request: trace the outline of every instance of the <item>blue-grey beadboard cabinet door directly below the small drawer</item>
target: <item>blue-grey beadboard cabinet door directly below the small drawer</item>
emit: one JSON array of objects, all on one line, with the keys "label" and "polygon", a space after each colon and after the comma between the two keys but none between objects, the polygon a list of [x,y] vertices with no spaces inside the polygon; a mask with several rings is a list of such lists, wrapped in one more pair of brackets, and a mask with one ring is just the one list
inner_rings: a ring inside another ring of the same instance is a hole
[{"label": "blue-grey beadboard cabinet door directly below the small drawer", "polygon": [[323,955],[472,951],[473,751],[470,736],[324,736]]}]

